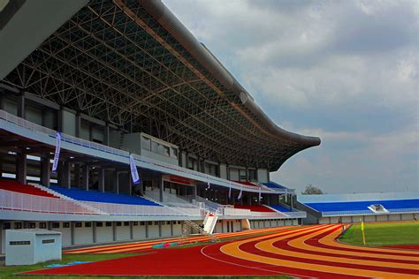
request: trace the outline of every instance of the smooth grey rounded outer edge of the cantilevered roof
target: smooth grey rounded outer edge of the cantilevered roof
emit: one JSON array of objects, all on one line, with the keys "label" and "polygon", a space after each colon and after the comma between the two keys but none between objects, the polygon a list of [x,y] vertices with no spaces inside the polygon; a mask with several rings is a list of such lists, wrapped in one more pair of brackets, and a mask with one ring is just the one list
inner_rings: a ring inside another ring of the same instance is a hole
[{"label": "smooth grey rounded outer edge of the cantilevered roof", "polygon": [[275,124],[268,117],[263,109],[256,103],[248,91],[242,87],[230,72],[209,52],[192,34],[186,26],[167,8],[161,0],[138,0],[138,3],[144,7],[149,14],[157,20],[164,28],[187,49],[190,54],[199,61],[214,77],[226,88],[232,90],[240,97],[241,102],[259,120],[265,124],[269,132],[282,139],[297,141],[309,147],[320,145],[320,138],[303,136],[294,132],[288,132]]}]

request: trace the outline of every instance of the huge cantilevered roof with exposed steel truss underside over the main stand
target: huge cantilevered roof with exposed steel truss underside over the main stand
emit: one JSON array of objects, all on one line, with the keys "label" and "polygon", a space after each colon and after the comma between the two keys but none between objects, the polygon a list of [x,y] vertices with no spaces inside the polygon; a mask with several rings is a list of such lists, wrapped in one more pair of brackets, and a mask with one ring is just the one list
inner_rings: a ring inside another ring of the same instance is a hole
[{"label": "huge cantilevered roof with exposed steel truss underside over the main stand", "polygon": [[3,82],[211,161],[278,170],[320,144],[274,124],[159,0],[91,1]]}]

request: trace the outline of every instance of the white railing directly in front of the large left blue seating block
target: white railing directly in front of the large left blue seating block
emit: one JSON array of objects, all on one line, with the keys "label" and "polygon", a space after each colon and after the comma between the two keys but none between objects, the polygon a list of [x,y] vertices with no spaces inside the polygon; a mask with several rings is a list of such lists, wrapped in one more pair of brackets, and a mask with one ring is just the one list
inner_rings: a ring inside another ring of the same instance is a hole
[{"label": "white railing directly in front of the large left blue seating block", "polygon": [[109,215],[147,215],[147,216],[196,216],[201,218],[202,213],[199,208],[181,208],[176,207],[157,207],[126,205],[106,202],[84,201],[88,206],[95,207]]}]

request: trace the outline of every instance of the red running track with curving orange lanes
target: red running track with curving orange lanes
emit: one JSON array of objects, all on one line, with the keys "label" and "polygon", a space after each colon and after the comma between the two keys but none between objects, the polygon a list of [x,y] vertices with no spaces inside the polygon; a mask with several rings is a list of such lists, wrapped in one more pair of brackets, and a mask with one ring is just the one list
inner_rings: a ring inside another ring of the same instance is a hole
[{"label": "red running track with curving orange lanes", "polygon": [[[335,241],[340,231],[341,225],[316,225],[297,230],[276,228],[263,236],[190,248],[149,249],[150,253],[143,255],[27,274],[419,277],[419,251],[344,245]],[[122,246],[125,247],[103,247],[107,250],[95,247],[90,253],[110,253],[110,250],[132,253],[141,249],[141,246]]]}]

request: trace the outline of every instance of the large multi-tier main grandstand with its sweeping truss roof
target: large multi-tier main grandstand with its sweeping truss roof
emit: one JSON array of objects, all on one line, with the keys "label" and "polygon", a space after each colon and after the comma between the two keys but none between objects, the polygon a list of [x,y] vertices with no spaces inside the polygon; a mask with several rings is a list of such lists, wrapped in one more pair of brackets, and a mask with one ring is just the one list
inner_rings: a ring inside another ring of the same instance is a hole
[{"label": "large multi-tier main grandstand with its sweeping truss roof", "polygon": [[[287,132],[161,1],[0,6],[0,220],[63,245],[297,225]],[[200,225],[203,225],[200,227]]]}]

